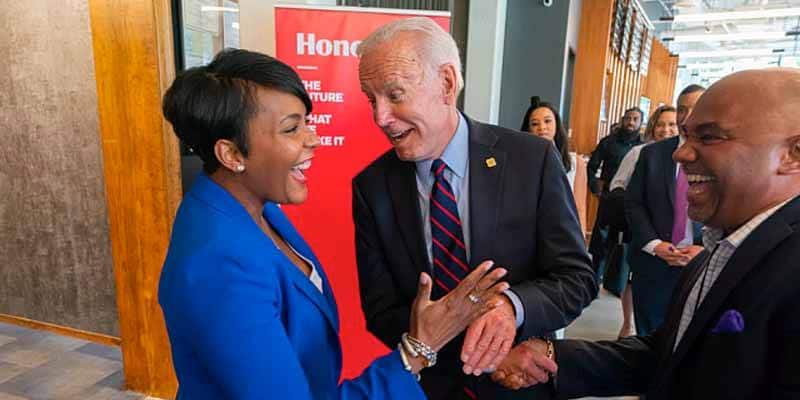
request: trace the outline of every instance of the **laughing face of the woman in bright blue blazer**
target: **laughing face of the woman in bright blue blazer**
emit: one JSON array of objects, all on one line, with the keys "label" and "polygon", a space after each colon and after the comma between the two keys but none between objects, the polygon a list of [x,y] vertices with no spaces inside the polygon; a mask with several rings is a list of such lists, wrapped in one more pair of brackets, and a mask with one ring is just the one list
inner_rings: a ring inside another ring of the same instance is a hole
[{"label": "laughing face of the woman in bright blue blazer", "polygon": [[305,124],[305,105],[291,94],[263,87],[255,96],[258,111],[248,122],[242,187],[262,202],[302,203],[308,197],[304,171],[319,145]]}]

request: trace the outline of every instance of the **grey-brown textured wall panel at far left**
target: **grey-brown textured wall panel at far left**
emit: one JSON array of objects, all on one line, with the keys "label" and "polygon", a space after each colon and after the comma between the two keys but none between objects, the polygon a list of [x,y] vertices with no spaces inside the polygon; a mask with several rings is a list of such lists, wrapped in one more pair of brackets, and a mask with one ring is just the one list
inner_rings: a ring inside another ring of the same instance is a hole
[{"label": "grey-brown textured wall panel at far left", "polygon": [[0,313],[113,341],[88,0],[5,1],[0,26]]}]

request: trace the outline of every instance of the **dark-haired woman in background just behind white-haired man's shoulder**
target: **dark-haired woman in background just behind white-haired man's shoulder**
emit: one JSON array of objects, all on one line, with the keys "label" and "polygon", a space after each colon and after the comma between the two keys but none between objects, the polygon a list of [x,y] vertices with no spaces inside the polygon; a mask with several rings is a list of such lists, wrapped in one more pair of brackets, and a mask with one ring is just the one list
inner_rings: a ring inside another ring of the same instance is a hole
[{"label": "dark-haired woman in background just behind white-haired man's shoulder", "polygon": [[[522,118],[522,132],[529,132],[536,136],[552,141],[558,153],[561,154],[561,162],[564,164],[564,171],[572,187],[572,195],[575,198],[575,205],[578,209],[578,218],[581,228],[586,230],[586,162],[569,150],[569,136],[564,125],[561,123],[561,116],[552,104],[539,100],[539,96],[531,97],[531,105],[525,111]],[[577,182],[576,182],[577,181]]]}]

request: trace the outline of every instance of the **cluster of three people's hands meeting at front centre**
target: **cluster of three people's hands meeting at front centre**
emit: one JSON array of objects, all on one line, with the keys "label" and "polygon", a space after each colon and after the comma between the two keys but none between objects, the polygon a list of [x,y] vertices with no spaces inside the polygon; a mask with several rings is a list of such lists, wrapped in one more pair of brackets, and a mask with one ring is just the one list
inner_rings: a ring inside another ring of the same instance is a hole
[{"label": "cluster of three people's hands meeting at front centre", "polygon": [[[506,270],[492,266],[483,262],[437,301],[430,300],[432,280],[423,273],[411,307],[410,334],[438,351],[468,326],[461,352],[464,373],[492,373],[493,380],[512,389],[547,382],[556,364],[547,358],[545,342],[529,340],[511,348],[516,315],[504,294],[509,285],[500,281]],[[420,360],[411,364],[414,373],[423,368]]]}]

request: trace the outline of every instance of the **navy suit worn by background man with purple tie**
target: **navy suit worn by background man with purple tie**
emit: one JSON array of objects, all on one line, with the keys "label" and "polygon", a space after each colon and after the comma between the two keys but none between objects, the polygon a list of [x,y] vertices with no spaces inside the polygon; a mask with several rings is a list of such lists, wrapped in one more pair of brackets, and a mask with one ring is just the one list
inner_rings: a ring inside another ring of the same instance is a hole
[{"label": "navy suit worn by background man with purple tie", "polygon": [[[680,267],[669,266],[642,248],[651,240],[672,241],[678,137],[645,146],[625,191],[625,214],[631,231],[628,263],[633,272],[637,327],[650,333],[661,325]],[[693,223],[694,242],[702,244],[701,225]]]}]

